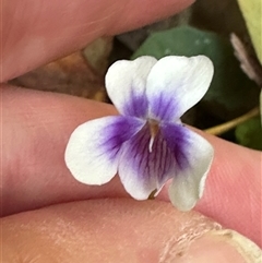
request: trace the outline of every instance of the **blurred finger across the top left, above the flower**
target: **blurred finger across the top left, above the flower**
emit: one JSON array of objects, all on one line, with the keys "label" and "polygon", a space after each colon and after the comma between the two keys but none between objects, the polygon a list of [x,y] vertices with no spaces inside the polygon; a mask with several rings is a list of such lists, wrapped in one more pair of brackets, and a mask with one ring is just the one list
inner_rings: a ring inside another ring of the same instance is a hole
[{"label": "blurred finger across the top left, above the flower", "polygon": [[1,82],[115,35],[174,14],[193,0],[8,0],[2,3]]}]

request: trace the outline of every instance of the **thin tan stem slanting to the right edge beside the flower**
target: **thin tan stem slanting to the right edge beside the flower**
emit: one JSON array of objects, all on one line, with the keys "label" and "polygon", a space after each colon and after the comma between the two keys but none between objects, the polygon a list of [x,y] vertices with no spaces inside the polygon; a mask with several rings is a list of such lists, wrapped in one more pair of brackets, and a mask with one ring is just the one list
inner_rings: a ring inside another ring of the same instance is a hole
[{"label": "thin tan stem slanting to the right edge beside the flower", "polygon": [[241,124],[242,122],[251,119],[252,117],[259,116],[259,115],[260,115],[260,109],[259,109],[259,107],[257,107],[234,120],[230,120],[223,124],[206,129],[205,132],[213,134],[213,135],[221,135],[221,134],[231,130],[233,128],[237,127],[238,124]]}]

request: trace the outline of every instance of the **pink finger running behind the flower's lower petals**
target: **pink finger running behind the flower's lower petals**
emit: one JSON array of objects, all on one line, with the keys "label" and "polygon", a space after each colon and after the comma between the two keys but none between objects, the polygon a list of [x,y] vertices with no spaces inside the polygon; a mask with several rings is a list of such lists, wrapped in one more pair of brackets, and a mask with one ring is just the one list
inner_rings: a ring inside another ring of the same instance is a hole
[{"label": "pink finger running behind the flower's lower petals", "polygon": [[[84,186],[63,160],[72,131],[90,119],[117,115],[112,106],[13,87],[2,89],[2,106],[3,215],[74,200],[128,196],[118,177],[102,187]],[[215,158],[196,208],[261,243],[261,153],[203,135]],[[159,199],[168,200],[166,188]]]}]

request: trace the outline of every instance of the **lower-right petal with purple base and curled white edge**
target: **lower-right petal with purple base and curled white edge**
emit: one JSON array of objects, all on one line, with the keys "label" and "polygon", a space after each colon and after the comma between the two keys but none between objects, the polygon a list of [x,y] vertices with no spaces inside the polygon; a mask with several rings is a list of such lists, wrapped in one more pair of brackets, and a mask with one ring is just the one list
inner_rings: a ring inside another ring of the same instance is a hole
[{"label": "lower-right petal with purple base and curled white edge", "polygon": [[166,124],[162,132],[177,163],[169,188],[170,201],[180,211],[189,211],[203,194],[214,150],[205,139],[183,125]]}]

